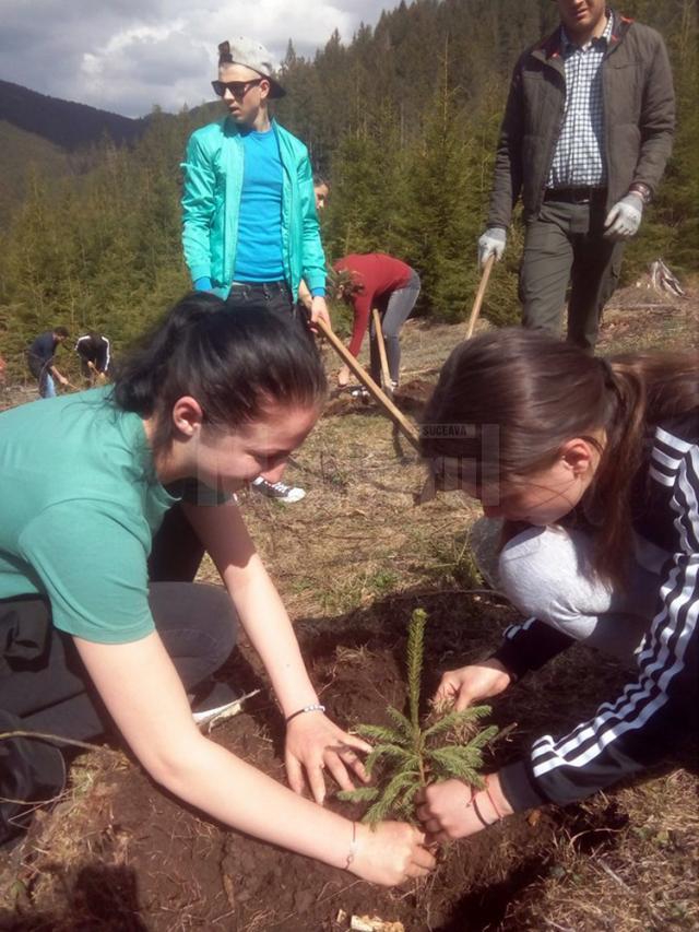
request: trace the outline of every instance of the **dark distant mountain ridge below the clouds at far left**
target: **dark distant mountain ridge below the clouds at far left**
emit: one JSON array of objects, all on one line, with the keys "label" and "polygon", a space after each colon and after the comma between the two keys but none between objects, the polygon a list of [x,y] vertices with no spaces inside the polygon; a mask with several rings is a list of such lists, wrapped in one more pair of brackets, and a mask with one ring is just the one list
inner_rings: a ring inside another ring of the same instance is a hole
[{"label": "dark distant mountain ridge below the clouds at far left", "polygon": [[0,81],[0,120],[40,135],[68,152],[98,142],[105,133],[117,144],[133,142],[149,122],[147,117],[122,117],[86,104],[49,97],[9,81]]}]

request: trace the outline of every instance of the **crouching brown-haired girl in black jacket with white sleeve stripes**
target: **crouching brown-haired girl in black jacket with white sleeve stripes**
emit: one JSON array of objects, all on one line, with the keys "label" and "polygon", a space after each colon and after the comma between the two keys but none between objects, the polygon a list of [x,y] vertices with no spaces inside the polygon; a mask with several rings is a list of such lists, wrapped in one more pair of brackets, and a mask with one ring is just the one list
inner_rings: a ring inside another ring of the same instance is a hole
[{"label": "crouching brown-haired girl in black jacket with white sleeve stripes", "polygon": [[437,697],[489,699],[579,640],[637,671],[484,790],[425,790],[430,835],[583,799],[696,740],[699,354],[606,359],[538,332],[484,334],[442,368],[422,448],[438,484],[505,519],[499,588],[529,616],[488,660],[445,673]]}]

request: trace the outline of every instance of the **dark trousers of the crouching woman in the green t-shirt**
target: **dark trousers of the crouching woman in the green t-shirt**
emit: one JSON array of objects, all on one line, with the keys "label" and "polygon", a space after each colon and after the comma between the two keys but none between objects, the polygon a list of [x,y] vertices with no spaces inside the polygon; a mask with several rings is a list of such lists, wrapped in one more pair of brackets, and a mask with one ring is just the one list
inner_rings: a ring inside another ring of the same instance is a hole
[{"label": "dark trousers of the crouching woman in the green t-shirt", "polygon": [[[226,661],[236,637],[228,594],[191,582],[202,554],[180,509],[171,509],[153,541],[149,601],[188,691]],[[37,597],[0,601],[0,733],[37,731],[85,741],[110,728],[72,637],[51,624],[48,602]],[[0,740],[0,845],[22,826],[24,806],[8,801],[46,799],[60,791],[63,779],[56,745]]]}]

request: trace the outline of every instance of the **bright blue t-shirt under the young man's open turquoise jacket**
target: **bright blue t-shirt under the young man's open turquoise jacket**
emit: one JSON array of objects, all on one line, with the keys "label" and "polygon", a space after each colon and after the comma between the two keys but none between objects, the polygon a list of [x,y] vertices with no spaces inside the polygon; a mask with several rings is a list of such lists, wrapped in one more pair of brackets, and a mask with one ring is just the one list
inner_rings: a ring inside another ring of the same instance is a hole
[{"label": "bright blue t-shirt under the young man's open turquoise jacket", "polygon": [[282,248],[283,168],[274,130],[241,133],[242,194],[238,217],[236,282],[284,279]]}]

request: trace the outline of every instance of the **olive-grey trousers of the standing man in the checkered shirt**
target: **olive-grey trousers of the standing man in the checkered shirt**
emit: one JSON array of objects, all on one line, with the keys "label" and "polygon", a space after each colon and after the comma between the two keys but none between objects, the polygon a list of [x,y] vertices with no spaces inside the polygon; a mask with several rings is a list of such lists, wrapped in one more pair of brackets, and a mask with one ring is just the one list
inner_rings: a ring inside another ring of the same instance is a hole
[{"label": "olive-grey trousers of the standing man in the checkered shirt", "polygon": [[520,272],[524,327],[558,335],[570,284],[567,338],[594,350],[624,255],[623,243],[603,236],[605,216],[601,202],[546,201],[528,221]]}]

